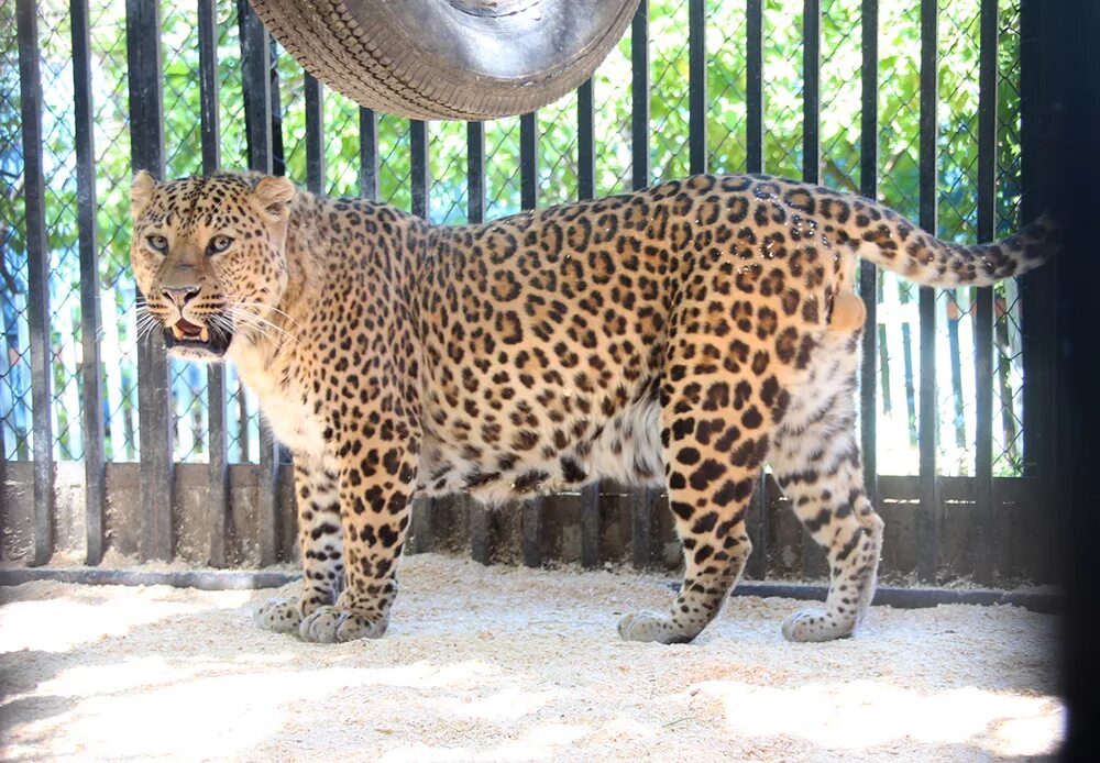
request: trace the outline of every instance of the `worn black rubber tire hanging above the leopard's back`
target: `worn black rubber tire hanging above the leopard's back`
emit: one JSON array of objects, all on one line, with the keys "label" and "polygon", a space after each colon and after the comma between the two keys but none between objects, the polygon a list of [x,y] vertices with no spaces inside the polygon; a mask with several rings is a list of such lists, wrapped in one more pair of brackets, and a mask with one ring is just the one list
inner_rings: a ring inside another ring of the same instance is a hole
[{"label": "worn black rubber tire hanging above the leopard's back", "polygon": [[638,0],[250,0],[307,71],[360,106],[484,120],[587,79]]}]

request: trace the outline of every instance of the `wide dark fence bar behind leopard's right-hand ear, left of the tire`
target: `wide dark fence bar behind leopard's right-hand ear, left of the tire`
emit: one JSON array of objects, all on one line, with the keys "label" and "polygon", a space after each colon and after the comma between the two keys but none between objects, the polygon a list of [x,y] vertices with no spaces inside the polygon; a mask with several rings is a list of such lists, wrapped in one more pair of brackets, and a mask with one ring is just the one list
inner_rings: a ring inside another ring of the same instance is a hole
[{"label": "wide dark fence bar behind leopard's right-hand ear, left of the tire", "polygon": [[[272,62],[267,30],[252,7],[238,0],[241,21],[241,67],[244,84],[244,123],[249,142],[249,167],[273,170]],[[260,564],[278,559],[279,447],[266,422],[260,432],[260,488],[257,495]]]}]

